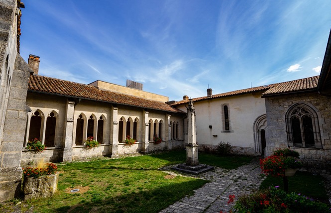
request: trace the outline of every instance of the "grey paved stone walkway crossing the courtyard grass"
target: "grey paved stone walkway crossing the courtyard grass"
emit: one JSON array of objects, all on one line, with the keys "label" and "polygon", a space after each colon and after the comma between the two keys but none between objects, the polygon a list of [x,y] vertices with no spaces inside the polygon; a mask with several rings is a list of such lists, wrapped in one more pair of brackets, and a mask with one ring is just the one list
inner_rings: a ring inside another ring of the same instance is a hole
[{"label": "grey paved stone walkway crossing the courtyard grass", "polygon": [[[163,169],[167,170],[169,174],[174,174],[170,171],[170,167]],[[250,164],[234,170],[215,168],[213,171],[192,176],[210,180],[211,183],[195,190],[193,196],[183,198],[160,213],[229,212],[233,203],[227,204],[228,196],[235,195],[237,198],[240,195],[250,194],[258,190],[264,180],[264,177],[261,177],[260,174],[259,160],[254,158]]]}]

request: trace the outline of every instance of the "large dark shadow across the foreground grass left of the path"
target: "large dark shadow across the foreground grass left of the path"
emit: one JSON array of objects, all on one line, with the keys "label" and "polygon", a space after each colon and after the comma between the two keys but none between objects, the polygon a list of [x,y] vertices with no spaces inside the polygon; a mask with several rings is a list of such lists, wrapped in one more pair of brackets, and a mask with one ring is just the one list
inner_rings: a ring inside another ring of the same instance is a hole
[{"label": "large dark shadow across the foreground grass left of the path", "polygon": [[208,183],[205,180],[191,179],[180,184],[169,183],[151,190],[141,190],[118,196],[97,193],[93,190],[84,194],[69,194],[67,197],[79,197],[74,206],[62,206],[45,212],[107,212],[107,213],[157,213]]}]

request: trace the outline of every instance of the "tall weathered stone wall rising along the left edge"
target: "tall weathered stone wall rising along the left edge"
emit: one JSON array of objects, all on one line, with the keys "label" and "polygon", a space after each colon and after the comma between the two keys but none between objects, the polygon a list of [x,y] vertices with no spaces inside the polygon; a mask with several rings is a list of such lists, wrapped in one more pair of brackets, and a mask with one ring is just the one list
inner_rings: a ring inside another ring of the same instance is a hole
[{"label": "tall weathered stone wall rising along the left edge", "polygon": [[0,201],[18,196],[31,69],[17,54],[20,10],[16,0],[0,1]]}]

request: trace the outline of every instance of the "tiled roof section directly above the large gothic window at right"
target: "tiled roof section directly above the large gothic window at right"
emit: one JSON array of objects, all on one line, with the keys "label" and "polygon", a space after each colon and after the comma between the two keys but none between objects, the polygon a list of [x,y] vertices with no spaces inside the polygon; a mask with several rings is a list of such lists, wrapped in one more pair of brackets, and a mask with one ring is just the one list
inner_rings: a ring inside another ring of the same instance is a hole
[{"label": "tiled roof section directly above the large gothic window at right", "polygon": [[286,93],[298,93],[304,91],[317,90],[319,83],[319,76],[313,76],[305,79],[298,79],[294,81],[282,82],[274,84],[269,90],[262,94],[265,96],[274,96]]}]

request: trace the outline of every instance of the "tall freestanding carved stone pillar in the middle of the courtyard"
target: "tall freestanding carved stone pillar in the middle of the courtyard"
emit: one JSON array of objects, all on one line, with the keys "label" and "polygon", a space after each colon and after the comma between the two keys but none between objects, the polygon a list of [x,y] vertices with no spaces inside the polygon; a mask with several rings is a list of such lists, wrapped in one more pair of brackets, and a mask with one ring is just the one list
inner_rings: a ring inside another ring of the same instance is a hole
[{"label": "tall freestanding carved stone pillar in the middle of the courtyard", "polygon": [[197,166],[198,160],[198,145],[196,142],[196,113],[192,99],[189,100],[187,107],[187,122],[188,122],[188,145],[186,146],[186,165]]}]

